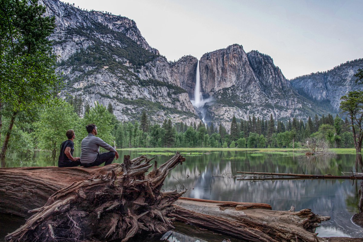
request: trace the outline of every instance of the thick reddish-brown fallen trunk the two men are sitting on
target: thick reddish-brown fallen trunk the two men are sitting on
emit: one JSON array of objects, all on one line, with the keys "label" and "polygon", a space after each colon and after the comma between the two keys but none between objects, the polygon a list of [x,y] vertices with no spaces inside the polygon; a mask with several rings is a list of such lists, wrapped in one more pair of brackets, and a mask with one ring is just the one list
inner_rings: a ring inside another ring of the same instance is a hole
[{"label": "thick reddish-brown fallen trunk the two men are sitting on", "polygon": [[17,167],[0,168],[0,213],[28,218],[58,190],[75,181],[118,172],[120,164],[104,167]]}]

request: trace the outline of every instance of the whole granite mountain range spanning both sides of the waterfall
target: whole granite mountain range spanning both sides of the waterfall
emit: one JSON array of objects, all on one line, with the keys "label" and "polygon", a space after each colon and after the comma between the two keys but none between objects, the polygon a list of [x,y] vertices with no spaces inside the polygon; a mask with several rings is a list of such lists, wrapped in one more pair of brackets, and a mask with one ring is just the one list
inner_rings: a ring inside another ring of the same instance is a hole
[{"label": "whole granite mountain range spanning both sides of the waterfall", "polygon": [[[199,123],[198,115],[229,130],[232,116],[248,119],[306,119],[337,112],[339,98],[357,89],[354,74],[363,60],[325,73],[288,81],[271,57],[246,53],[241,45],[204,54],[200,59],[201,92],[209,98],[196,110],[197,58],[168,62],[151,48],[134,21],[99,11],[82,11],[58,0],[41,0],[57,28],[50,36],[58,70],[66,83],[61,96],[82,97],[83,104],[112,104],[119,120],[140,119],[146,110],[152,121]],[[322,105],[324,104],[324,105]]]}]

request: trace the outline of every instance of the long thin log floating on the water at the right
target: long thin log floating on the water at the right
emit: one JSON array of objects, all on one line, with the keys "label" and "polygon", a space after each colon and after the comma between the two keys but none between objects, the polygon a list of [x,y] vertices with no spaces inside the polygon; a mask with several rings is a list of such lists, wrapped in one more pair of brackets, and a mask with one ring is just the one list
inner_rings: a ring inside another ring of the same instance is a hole
[{"label": "long thin log floating on the water at the right", "polygon": [[[310,178],[310,179],[350,179],[350,180],[363,180],[363,176],[333,176],[330,174],[327,175],[309,175],[309,174],[294,174],[294,173],[274,173],[274,172],[245,172],[238,171],[237,173],[241,174],[250,174],[250,175],[263,175],[263,176],[292,176],[292,177],[301,177],[301,178]],[[257,179],[264,179],[262,177],[258,177]],[[252,180],[257,180],[252,179]],[[274,178],[270,178],[274,179]],[[237,179],[237,180],[247,180],[247,179]],[[251,179],[250,179],[251,180]]]}]

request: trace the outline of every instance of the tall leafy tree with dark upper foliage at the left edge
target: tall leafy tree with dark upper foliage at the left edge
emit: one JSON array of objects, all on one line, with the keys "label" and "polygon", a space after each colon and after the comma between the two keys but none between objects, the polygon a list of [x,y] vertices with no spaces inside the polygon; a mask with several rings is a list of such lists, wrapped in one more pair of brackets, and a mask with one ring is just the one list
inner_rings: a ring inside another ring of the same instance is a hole
[{"label": "tall leafy tree with dark upper foliage at the left edge", "polygon": [[46,104],[53,90],[59,89],[61,81],[54,71],[56,57],[48,40],[54,27],[54,17],[46,16],[45,7],[37,1],[1,1],[0,129],[2,108],[12,109],[1,159],[5,158],[17,115]]}]

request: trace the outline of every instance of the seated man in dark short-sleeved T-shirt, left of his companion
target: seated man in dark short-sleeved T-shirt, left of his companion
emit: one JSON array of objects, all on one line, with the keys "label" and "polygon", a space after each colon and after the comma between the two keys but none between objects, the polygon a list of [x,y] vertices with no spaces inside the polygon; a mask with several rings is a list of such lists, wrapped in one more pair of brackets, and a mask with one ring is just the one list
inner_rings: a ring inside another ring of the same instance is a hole
[{"label": "seated man in dark short-sleeved T-shirt, left of his companion", "polygon": [[73,139],[76,138],[73,130],[66,132],[68,140],[61,144],[61,152],[58,157],[58,167],[76,167],[81,165],[79,157],[73,157],[74,143]]}]

